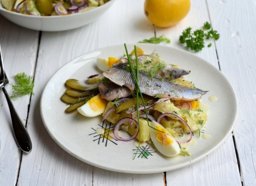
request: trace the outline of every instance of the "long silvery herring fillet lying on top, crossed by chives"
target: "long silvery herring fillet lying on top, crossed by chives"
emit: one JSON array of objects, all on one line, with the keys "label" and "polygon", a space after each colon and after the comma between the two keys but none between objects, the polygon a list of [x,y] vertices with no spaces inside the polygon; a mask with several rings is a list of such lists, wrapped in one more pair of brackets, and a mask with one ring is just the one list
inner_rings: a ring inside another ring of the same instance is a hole
[{"label": "long silvery herring fillet lying on top, crossed by chives", "polygon": [[[136,84],[132,73],[126,70],[127,65],[117,65],[102,75],[119,86],[128,87],[130,90],[136,89]],[[141,93],[148,96],[170,98],[174,100],[195,100],[207,93],[207,91],[197,88],[188,88],[179,84],[173,84],[170,81],[147,76],[146,72],[139,72],[139,87]]]}]

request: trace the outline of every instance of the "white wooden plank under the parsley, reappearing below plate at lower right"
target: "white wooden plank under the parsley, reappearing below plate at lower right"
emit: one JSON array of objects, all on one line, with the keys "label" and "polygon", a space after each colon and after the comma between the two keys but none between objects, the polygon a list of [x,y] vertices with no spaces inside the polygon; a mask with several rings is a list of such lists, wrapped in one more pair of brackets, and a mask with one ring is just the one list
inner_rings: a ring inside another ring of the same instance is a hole
[{"label": "white wooden plank under the parsley, reappearing below plate at lower right", "polygon": [[[187,50],[186,47],[179,44],[179,36],[182,34],[182,31],[189,26],[194,30],[200,29],[206,21],[210,22],[206,2],[204,0],[192,0],[189,14],[180,23],[168,29],[156,27],[156,34],[157,36],[166,35],[166,37],[171,38],[172,42],[171,44],[168,44],[168,46]],[[215,27],[215,24],[213,24],[213,28],[217,29],[222,37],[221,30]],[[208,48],[207,45],[209,42],[212,41],[206,41],[205,48],[201,52],[192,53],[204,58],[218,68],[218,58],[214,42],[212,42],[212,47]],[[217,41],[216,43],[218,44],[219,42],[220,41]],[[219,50],[221,50],[221,48],[219,49],[217,47],[217,51]],[[199,176],[199,172],[204,173],[204,176]],[[166,182],[167,185],[182,185],[182,183],[189,183],[192,185],[223,185],[226,183],[229,183],[230,185],[241,185],[231,134],[227,141],[207,158],[192,164],[191,166],[167,172]]]}]

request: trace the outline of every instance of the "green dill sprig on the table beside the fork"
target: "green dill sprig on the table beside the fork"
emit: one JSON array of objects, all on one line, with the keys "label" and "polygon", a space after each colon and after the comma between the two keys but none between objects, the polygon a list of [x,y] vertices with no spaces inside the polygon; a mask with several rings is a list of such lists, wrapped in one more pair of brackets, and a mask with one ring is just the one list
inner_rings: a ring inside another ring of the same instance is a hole
[{"label": "green dill sprig on the table beside the fork", "polygon": [[16,81],[16,85],[11,84],[12,86],[12,96],[11,99],[17,99],[21,96],[27,94],[34,94],[34,82],[33,77],[28,76],[25,73],[17,73],[17,75],[13,76]]}]

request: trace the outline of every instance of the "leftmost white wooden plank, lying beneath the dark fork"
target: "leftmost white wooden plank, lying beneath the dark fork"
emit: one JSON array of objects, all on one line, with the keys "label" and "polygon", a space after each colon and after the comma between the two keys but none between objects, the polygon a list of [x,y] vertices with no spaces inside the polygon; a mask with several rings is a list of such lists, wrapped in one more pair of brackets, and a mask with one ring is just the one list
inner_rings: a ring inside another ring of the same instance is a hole
[{"label": "leftmost white wooden plank, lying beneath the dark fork", "polygon": [[[15,84],[12,76],[17,73],[24,72],[33,76],[38,48],[38,32],[17,26],[1,15],[0,30],[4,68],[10,83]],[[6,89],[12,95],[11,86],[6,85]],[[17,113],[24,123],[26,123],[29,99],[28,95],[13,101]],[[0,93],[0,121],[0,183],[1,185],[15,185],[20,167],[21,150],[15,141],[12,120],[3,93]]]}]

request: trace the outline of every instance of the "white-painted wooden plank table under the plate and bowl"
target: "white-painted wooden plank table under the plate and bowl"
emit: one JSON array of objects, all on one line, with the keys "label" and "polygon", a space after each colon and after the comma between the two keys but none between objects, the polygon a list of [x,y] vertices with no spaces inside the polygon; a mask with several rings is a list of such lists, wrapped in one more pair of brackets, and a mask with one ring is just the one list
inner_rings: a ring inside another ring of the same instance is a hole
[{"label": "white-painted wooden plank table under the plate and bowl", "polygon": [[[8,105],[0,93],[1,186],[256,185],[255,0],[191,0],[186,18],[167,29],[154,27],[145,18],[143,2],[116,0],[95,22],[64,32],[33,31],[0,16],[0,44],[10,81],[20,72],[35,77],[35,94],[13,102],[32,139],[29,154],[17,147]],[[206,21],[221,37],[212,47],[205,47],[195,55],[224,73],[239,103],[233,133],[212,154],[175,171],[124,174],[81,162],[49,136],[41,119],[39,102],[47,81],[61,66],[93,49],[137,43],[154,35],[166,35],[172,42],[165,45],[185,49],[178,43],[181,32],[189,26],[200,28]],[[10,86],[7,90],[11,92]]]}]

